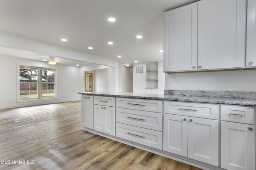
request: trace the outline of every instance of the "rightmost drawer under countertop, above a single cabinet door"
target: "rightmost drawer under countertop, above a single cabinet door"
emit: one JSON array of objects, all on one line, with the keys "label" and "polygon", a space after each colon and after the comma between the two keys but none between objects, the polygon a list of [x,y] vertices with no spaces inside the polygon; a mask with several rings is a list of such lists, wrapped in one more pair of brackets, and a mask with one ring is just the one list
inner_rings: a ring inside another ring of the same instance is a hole
[{"label": "rightmost drawer under countertop, above a single cabinet door", "polygon": [[220,108],[221,120],[254,124],[254,107],[222,105]]}]

